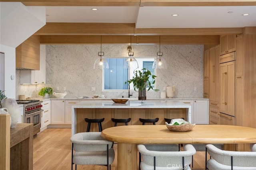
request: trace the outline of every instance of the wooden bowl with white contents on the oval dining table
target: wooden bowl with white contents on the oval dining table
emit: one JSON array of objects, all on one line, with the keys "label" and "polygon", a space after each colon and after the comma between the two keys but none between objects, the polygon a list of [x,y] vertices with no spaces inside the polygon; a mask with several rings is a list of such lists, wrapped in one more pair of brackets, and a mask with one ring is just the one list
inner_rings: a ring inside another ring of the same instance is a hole
[{"label": "wooden bowl with white contents on the oval dining table", "polygon": [[196,125],[196,124],[191,124],[187,121],[184,121],[183,119],[172,119],[170,124],[167,122],[165,122],[165,124],[170,131],[176,131],[176,132],[191,131],[193,127]]}]

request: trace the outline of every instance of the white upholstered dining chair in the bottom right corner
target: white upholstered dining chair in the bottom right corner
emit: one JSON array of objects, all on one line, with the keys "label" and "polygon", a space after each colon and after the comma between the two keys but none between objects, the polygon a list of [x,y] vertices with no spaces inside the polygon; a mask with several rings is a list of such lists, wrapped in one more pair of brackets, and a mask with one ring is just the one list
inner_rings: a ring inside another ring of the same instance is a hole
[{"label": "white upholstered dining chair in the bottom right corner", "polygon": [[[251,149],[255,148],[256,144],[252,144]],[[256,170],[256,152],[221,150],[212,144],[206,149],[211,156],[207,161],[209,170]]]}]

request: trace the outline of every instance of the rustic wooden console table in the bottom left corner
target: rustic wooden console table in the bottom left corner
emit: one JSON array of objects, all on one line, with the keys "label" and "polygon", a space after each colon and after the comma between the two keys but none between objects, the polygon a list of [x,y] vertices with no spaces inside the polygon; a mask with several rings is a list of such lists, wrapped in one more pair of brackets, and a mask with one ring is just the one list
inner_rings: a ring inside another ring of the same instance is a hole
[{"label": "rustic wooden console table in the bottom left corner", "polygon": [[10,129],[10,115],[0,115],[0,170],[33,169],[33,132],[33,123]]}]

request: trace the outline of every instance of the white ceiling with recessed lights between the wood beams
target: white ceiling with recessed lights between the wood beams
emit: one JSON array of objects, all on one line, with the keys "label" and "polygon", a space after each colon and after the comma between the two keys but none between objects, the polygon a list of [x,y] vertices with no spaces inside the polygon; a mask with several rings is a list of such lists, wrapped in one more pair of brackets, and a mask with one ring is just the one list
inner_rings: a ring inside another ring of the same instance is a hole
[{"label": "white ceiling with recessed lights between the wood beams", "polygon": [[256,26],[256,6],[47,6],[46,14],[46,22],[136,23],[136,28]]}]

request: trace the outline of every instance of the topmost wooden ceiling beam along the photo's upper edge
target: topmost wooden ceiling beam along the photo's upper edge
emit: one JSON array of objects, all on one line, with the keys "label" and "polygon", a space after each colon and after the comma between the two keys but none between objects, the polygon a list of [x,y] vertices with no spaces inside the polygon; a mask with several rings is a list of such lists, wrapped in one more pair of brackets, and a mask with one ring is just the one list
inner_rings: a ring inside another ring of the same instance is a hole
[{"label": "topmost wooden ceiling beam along the photo's upper edge", "polygon": [[1,0],[26,6],[255,6],[255,0]]}]

